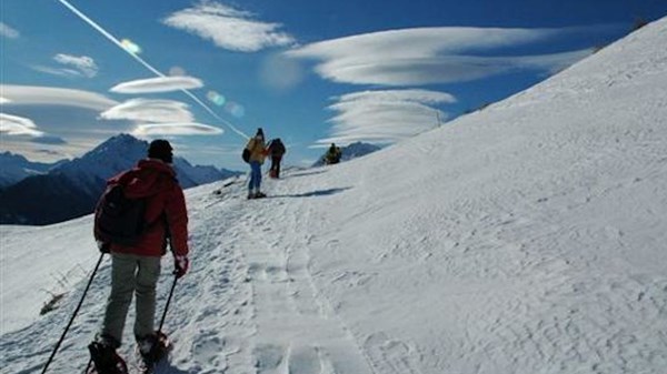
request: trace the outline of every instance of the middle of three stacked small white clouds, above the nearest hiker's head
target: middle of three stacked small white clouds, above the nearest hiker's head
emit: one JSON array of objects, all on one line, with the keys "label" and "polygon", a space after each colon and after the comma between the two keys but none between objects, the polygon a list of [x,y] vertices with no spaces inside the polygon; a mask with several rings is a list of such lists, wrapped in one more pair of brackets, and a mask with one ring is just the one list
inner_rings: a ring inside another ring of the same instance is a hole
[{"label": "middle of three stacked small white clouds, above the nearest hiker's head", "polygon": [[160,123],[195,121],[186,103],[172,100],[132,99],[110,108],[100,117],[104,120]]}]

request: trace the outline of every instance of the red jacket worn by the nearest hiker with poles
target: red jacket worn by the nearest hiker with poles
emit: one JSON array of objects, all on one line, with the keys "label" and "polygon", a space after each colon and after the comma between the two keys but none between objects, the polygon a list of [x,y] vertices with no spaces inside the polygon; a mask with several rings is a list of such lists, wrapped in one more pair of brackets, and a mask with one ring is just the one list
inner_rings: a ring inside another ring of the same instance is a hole
[{"label": "red jacket worn by the nearest hiker with poles", "polygon": [[159,257],[166,253],[169,233],[171,251],[176,255],[188,254],[186,198],[169,164],[156,159],[141,160],[135,169],[107,181],[107,184],[115,183],[123,184],[130,199],[148,198],[145,219],[149,229],[137,245],[111,244],[112,252]]}]

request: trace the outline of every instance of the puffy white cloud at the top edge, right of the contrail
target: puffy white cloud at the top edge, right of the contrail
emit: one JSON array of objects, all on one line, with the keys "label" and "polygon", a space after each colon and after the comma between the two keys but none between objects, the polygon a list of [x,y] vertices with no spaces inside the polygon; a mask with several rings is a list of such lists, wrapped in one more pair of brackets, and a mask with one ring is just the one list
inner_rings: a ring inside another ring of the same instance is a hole
[{"label": "puffy white cloud at the top edge, right of the contrail", "polygon": [[185,30],[218,47],[240,52],[256,52],[265,48],[290,46],[295,39],[278,31],[282,26],[255,20],[255,14],[212,1],[202,1],[195,8],[172,13],[165,24]]}]

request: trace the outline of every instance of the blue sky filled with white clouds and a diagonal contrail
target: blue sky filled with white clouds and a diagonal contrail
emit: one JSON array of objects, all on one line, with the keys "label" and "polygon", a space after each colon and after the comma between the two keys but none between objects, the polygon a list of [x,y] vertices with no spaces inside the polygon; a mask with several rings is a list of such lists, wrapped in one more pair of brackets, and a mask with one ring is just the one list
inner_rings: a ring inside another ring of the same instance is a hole
[{"label": "blue sky filled with white clouds and a diagonal contrail", "polygon": [[[664,0],[2,0],[0,151],[79,156],[120,132],[243,169],[258,127],[312,163],[521,91]],[[445,124],[446,125],[446,124]]]}]

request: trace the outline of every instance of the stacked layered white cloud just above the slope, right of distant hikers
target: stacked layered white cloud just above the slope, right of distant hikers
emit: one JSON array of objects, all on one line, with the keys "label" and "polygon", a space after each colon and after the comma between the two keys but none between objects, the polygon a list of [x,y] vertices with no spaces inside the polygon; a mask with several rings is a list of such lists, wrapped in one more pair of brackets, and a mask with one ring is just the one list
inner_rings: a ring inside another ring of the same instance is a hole
[{"label": "stacked layered white cloud just above the slope, right of distant hikers", "polygon": [[335,98],[329,107],[338,112],[331,135],[313,146],[357,141],[394,143],[435,128],[447,114],[431,105],[456,102],[449,93],[428,90],[364,91]]}]

